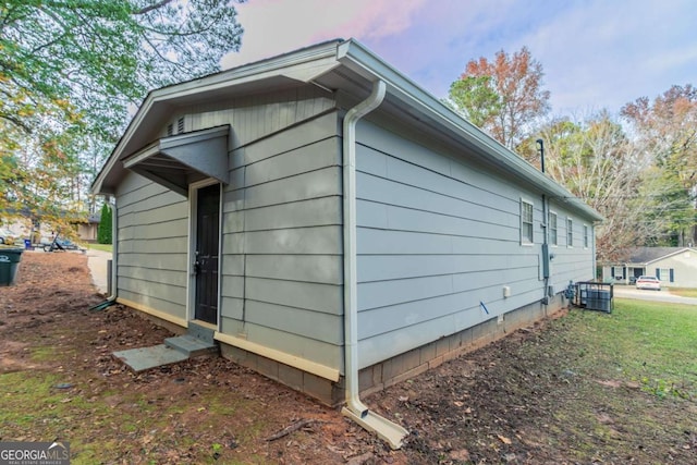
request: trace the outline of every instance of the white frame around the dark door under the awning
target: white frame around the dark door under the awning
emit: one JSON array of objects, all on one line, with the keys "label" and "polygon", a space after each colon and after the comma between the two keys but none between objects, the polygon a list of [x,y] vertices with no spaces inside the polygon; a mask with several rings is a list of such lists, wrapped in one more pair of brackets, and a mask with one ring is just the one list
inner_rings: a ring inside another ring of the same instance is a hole
[{"label": "white frame around the dark door under the awning", "polygon": [[220,293],[222,284],[222,197],[224,192],[220,181],[213,178],[197,181],[188,185],[188,250],[186,252],[186,274],[188,279],[186,281],[186,321],[188,322],[196,319],[196,272],[194,270],[194,261],[196,261],[195,252],[198,225],[198,189],[213,184],[218,184],[220,186],[220,199],[218,204],[218,315],[216,316],[216,330],[220,331],[220,305],[222,303]]}]

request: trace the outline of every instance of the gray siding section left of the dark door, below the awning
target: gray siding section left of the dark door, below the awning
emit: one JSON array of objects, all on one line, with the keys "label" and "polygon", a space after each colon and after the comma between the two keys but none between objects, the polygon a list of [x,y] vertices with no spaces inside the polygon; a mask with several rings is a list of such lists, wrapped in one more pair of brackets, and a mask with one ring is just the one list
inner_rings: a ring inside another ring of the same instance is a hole
[{"label": "gray siding section left of the dark door, below the awning", "polygon": [[185,319],[188,203],[130,173],[117,207],[119,296]]}]

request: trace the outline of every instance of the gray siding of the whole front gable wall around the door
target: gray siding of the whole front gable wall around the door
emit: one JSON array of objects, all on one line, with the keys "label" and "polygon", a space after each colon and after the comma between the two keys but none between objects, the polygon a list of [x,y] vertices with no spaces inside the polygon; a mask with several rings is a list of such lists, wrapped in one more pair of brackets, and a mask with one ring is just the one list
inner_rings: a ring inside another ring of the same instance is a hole
[{"label": "gray siding of the whole front gable wall around the door", "polygon": [[[221,331],[341,368],[341,138],[332,96],[306,86],[172,109],[159,135],[181,118],[186,132],[231,127],[221,216]],[[184,318],[188,201],[133,180],[145,183],[130,175],[121,188],[127,206],[120,232],[121,295]],[[135,219],[134,209],[149,210],[171,232],[148,218]],[[136,223],[140,235],[133,236]],[[146,237],[157,241],[157,254]],[[138,283],[151,268],[157,280]]]}]

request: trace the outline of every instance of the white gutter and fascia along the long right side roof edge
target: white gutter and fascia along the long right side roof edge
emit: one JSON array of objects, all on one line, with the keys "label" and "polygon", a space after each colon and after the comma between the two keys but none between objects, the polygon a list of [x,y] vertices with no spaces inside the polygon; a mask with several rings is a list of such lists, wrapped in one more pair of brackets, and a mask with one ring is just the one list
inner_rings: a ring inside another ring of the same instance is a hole
[{"label": "white gutter and fascia along the long right side roof edge", "polygon": [[388,94],[456,134],[461,139],[478,147],[481,152],[490,156],[489,160],[492,163],[535,184],[546,194],[583,212],[594,221],[603,220],[603,217],[595,209],[448,108],[419,85],[370,52],[360,42],[351,39],[340,44],[337,48],[337,60],[369,81],[384,81],[388,84]]}]

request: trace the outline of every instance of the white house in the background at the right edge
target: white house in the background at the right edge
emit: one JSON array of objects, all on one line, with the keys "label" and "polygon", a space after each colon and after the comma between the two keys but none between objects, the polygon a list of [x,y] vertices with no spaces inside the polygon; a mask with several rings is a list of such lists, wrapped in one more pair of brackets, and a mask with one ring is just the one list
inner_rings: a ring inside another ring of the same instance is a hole
[{"label": "white house in the background at the right edge", "polygon": [[636,247],[626,250],[626,261],[602,267],[604,281],[634,284],[648,274],[663,287],[697,287],[697,249],[694,247]]}]

